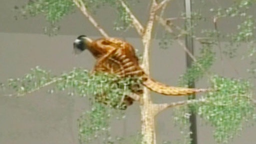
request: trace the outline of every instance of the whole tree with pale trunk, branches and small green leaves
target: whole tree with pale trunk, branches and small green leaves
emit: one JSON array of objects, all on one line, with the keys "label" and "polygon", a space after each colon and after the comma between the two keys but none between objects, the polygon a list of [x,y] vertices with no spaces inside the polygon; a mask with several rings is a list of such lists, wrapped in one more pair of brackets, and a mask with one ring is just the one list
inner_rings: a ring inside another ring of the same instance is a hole
[{"label": "whole tree with pale trunk, branches and small green leaves", "polygon": [[[30,0],[23,7],[16,7],[16,9],[21,10],[24,16],[34,16],[39,13],[45,14],[46,19],[50,23],[49,27],[46,28],[50,30],[46,32],[48,34],[56,34],[55,32],[58,29],[57,22],[65,15],[71,13],[75,7],[78,7],[85,17],[98,29],[100,34],[104,37],[108,37],[108,34],[99,26],[90,13],[104,4],[109,4],[118,11],[115,28],[117,30],[126,30],[129,27],[133,27],[140,36],[144,46],[142,65],[147,73],[149,73],[148,53],[152,39],[153,25],[159,22],[164,27],[164,34],[160,46],[167,47],[171,41],[175,40],[184,48],[191,59],[193,59],[192,66],[180,76],[180,85],[186,86],[192,81],[200,79],[202,76],[207,76],[211,87],[216,90],[206,93],[199,99],[156,104],[152,103],[149,91],[144,88],[140,104],[142,143],[156,143],[154,116],[169,107],[177,107],[177,115],[173,117],[180,125],[189,125],[187,121],[189,111],[194,111],[215,127],[213,134],[217,143],[228,142],[228,140],[240,130],[242,122],[255,118],[253,105],[255,104],[255,100],[252,99],[251,86],[248,80],[222,77],[210,72],[209,68],[215,60],[216,52],[220,52],[221,57],[224,56],[222,53],[232,57],[233,54],[235,54],[235,49],[240,48],[240,44],[243,42],[248,45],[248,57],[253,58],[253,54],[255,53],[255,47],[253,45],[255,44],[253,33],[255,32],[255,25],[252,15],[248,14],[253,0],[237,0],[225,8],[211,8],[209,17],[206,17],[203,15],[203,12],[201,12],[205,9],[198,8],[191,13],[191,18],[189,18],[193,21],[191,29],[184,29],[175,24],[176,19],[187,20],[187,17],[185,17],[183,13],[177,17],[163,17],[164,9],[167,4],[171,2],[170,0],[149,1],[151,6],[148,21],[145,26],[132,14],[128,4],[130,2],[131,1],[125,0]],[[203,0],[194,2],[194,5],[207,4]],[[242,22],[237,26],[236,32],[223,33],[219,30],[218,20],[224,19],[225,17],[239,17],[242,19]],[[196,32],[198,28],[200,28],[197,27],[197,24],[202,20],[209,21],[214,26],[207,29],[199,29],[199,32]],[[194,56],[187,50],[183,42],[185,35],[192,36],[201,44],[200,54],[198,56]],[[202,36],[199,37],[198,35]],[[228,48],[222,49],[220,39],[229,40],[226,46]],[[218,49],[214,49],[214,46],[217,46]],[[252,59],[252,63],[253,61],[254,59]],[[252,69],[250,71],[253,72],[255,70]],[[105,88],[103,88],[102,83],[106,81],[109,84],[104,85]],[[117,81],[118,84],[112,81]],[[17,95],[24,95],[46,85],[55,83],[57,89],[71,87],[80,95],[88,95],[92,103],[92,110],[82,115],[79,121],[80,140],[81,142],[88,142],[93,135],[104,132],[106,132],[106,135],[108,134],[107,120],[109,119],[100,117],[103,117],[106,113],[113,115],[113,113],[116,112],[115,108],[118,108],[120,95],[130,92],[129,89],[126,88],[129,82],[136,82],[136,80],[133,81],[129,78],[119,79],[115,75],[105,73],[89,75],[88,71],[79,68],[74,68],[69,73],[63,73],[59,76],[52,76],[48,71],[36,67],[22,78],[9,79],[8,86],[14,88]],[[109,96],[107,106],[98,103],[92,96],[95,93],[102,92],[102,90],[107,92]],[[116,94],[116,92],[118,94]],[[116,103],[117,107],[114,107]],[[230,121],[230,119],[232,120]],[[186,131],[184,132],[184,137],[188,138],[187,141],[189,142],[189,130],[184,129],[185,127],[182,128],[183,131]],[[107,139],[106,141],[111,142],[111,140]]]}]

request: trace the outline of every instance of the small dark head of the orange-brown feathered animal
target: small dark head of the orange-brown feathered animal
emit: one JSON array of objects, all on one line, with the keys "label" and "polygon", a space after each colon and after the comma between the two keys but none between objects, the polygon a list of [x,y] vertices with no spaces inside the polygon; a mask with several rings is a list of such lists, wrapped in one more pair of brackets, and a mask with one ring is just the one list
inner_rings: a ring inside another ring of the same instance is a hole
[{"label": "small dark head of the orange-brown feathered animal", "polygon": [[73,53],[81,53],[83,50],[88,48],[91,42],[92,40],[85,35],[78,36],[73,42]]}]

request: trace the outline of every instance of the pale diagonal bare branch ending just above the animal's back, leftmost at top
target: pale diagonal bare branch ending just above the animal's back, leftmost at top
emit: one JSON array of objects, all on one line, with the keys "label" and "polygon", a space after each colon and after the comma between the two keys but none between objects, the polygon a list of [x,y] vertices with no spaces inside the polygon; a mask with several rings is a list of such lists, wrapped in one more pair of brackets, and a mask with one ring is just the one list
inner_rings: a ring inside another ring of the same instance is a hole
[{"label": "pale diagonal bare branch ending just above the animal's back, leftmost at top", "polygon": [[88,18],[88,20],[92,23],[92,25],[98,29],[101,35],[103,35],[104,37],[109,37],[107,33],[103,30],[103,28],[101,28],[99,24],[96,22],[96,20],[89,14],[82,0],[73,0],[73,2],[82,11],[82,13]]}]

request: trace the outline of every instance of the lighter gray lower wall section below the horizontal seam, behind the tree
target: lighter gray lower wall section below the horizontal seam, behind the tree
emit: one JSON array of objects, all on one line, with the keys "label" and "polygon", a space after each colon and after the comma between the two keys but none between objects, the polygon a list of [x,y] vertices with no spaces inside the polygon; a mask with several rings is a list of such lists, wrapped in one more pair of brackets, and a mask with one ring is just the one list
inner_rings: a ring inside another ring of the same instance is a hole
[{"label": "lighter gray lower wall section below the horizontal seam, behind the tree", "polygon": [[[72,67],[91,69],[94,59],[88,51],[78,56],[72,55],[72,42],[77,35],[48,37],[43,34],[0,33],[0,81],[10,77],[20,77],[36,65],[50,69],[54,74],[69,71]],[[141,42],[137,38],[126,38],[141,52]],[[185,70],[184,51],[175,42],[168,49],[158,48],[158,42],[151,46],[150,75],[155,79],[177,85],[177,78]],[[218,58],[212,67],[221,75],[247,77],[246,61],[237,59],[223,61]],[[232,65],[236,68],[235,72]],[[197,87],[206,87],[202,79]],[[0,94],[0,143],[77,143],[76,119],[82,111],[89,109],[86,97],[69,96],[65,92],[48,94],[47,89],[22,97],[7,97]],[[0,91],[2,93],[2,91]],[[152,94],[154,102],[176,101],[184,97],[168,97]],[[133,104],[126,110],[126,118],[114,120],[113,134],[129,135],[139,130],[139,106]],[[157,116],[157,141],[179,137],[171,121],[171,109]],[[213,130],[198,120],[199,143],[214,143]],[[232,143],[253,143],[256,127],[242,131]],[[96,142],[97,143],[97,142]]]}]

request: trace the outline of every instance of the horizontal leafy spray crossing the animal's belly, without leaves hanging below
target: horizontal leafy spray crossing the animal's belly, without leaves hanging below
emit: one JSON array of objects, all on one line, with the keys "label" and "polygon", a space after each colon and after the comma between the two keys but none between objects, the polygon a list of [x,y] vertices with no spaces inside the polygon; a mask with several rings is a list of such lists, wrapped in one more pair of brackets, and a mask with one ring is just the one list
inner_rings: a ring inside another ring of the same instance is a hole
[{"label": "horizontal leafy spray crossing the animal's belly, without leaves hanging below", "polygon": [[22,78],[9,79],[7,85],[20,96],[53,83],[56,85],[50,91],[72,89],[70,93],[88,95],[91,100],[102,102],[112,108],[125,109],[126,105],[122,100],[131,92],[132,85],[140,84],[140,79],[120,78],[101,72],[90,74],[81,68],[53,76],[49,71],[35,67]]}]

